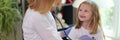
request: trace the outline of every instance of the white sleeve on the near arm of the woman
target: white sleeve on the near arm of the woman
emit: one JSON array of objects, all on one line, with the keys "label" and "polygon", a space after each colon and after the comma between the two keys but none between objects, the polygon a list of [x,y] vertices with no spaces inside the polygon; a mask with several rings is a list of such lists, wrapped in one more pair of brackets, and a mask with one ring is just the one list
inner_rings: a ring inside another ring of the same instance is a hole
[{"label": "white sleeve on the near arm of the woman", "polygon": [[62,40],[57,29],[43,16],[36,15],[33,26],[42,40]]}]

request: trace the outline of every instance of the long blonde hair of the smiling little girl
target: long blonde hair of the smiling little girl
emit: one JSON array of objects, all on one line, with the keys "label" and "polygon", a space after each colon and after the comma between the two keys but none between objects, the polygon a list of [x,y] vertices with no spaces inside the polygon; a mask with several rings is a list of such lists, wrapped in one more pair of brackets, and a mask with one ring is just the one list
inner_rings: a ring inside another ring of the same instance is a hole
[{"label": "long blonde hair of the smiling little girl", "polygon": [[[99,10],[98,6],[92,2],[92,1],[84,1],[80,4],[79,8],[81,7],[82,4],[88,4],[92,7],[92,17],[91,17],[91,22],[89,24],[89,27],[92,28],[92,32],[90,34],[96,34],[98,31],[98,27],[101,26],[100,24],[100,15],[99,15]],[[78,9],[79,10],[79,9]],[[77,13],[78,14],[78,13]],[[76,29],[81,28],[82,26],[82,21],[78,19],[78,16],[76,17]]]}]

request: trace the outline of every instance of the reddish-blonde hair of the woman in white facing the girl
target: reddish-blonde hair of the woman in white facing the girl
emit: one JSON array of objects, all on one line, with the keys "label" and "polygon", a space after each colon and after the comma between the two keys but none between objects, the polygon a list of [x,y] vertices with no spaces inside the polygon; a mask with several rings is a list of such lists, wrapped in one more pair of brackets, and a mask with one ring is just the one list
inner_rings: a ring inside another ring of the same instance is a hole
[{"label": "reddish-blonde hair of the woman in white facing the girl", "polygon": [[41,14],[46,14],[52,7],[55,0],[27,0],[29,8],[39,11]]}]

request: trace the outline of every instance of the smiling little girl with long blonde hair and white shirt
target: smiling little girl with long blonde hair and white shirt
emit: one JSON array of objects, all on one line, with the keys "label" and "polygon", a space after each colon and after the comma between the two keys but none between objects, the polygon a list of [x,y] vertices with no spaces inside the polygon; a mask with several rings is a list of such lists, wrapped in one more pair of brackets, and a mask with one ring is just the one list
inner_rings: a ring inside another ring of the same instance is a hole
[{"label": "smiling little girl with long blonde hair and white shirt", "polygon": [[72,40],[104,40],[99,10],[94,2],[82,2],[76,20],[76,25],[68,35]]}]

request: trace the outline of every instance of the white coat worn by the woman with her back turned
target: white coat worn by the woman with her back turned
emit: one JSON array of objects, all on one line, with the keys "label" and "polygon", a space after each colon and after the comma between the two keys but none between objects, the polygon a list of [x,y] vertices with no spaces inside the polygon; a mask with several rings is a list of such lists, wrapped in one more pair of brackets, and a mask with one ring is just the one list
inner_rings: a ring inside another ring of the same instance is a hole
[{"label": "white coat worn by the woman with her back turned", "polygon": [[57,32],[55,20],[50,12],[42,15],[28,8],[22,28],[24,40],[62,40]]}]

